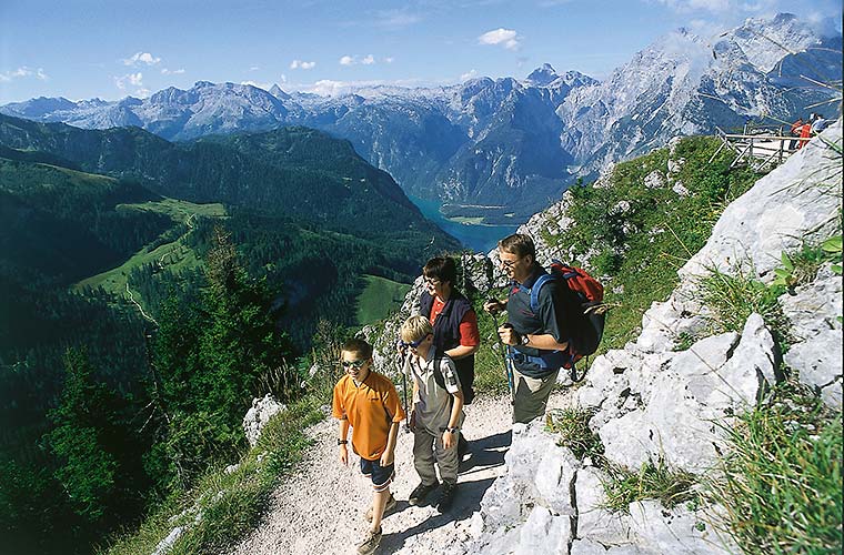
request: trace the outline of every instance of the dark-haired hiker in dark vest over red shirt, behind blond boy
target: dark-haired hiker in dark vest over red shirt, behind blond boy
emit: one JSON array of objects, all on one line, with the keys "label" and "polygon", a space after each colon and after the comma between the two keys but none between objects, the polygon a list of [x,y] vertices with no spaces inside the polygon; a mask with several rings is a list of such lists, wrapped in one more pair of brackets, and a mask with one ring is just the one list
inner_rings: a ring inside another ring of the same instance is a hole
[{"label": "dark-haired hiker in dark vest over red shirt, behind blond boy", "polygon": [[[456,289],[458,269],[454,260],[436,256],[422,269],[425,290],[419,301],[419,313],[433,326],[434,347],[449,355],[460,377],[463,404],[474,398],[474,353],[481,345],[478,315],[472,303]],[[458,458],[469,450],[469,442],[459,434]]]}]

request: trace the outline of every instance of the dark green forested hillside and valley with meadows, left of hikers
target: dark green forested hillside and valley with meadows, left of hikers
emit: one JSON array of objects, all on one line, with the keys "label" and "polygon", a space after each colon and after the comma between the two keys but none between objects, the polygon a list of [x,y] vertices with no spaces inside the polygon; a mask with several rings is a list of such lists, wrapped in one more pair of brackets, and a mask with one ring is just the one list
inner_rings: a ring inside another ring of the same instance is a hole
[{"label": "dark green forested hillside and valley with meadows, left of hikers", "polygon": [[302,128],[170,143],[0,117],[0,216],[16,553],[88,553],[192,487],[243,448],[252,395],[299,395],[316,323],[353,325],[364,275],[409,282],[459,249],[348,142]]}]

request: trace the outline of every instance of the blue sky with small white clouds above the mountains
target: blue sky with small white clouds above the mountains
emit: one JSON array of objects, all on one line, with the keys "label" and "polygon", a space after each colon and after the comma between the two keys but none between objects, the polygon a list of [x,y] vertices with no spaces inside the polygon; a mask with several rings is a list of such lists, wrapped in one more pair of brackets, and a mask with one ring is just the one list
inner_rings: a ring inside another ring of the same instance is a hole
[{"label": "blue sky with small white clouds above the mountains", "polygon": [[0,104],[201,80],[452,84],[544,62],[601,79],[679,27],[714,37],[780,11],[840,28],[842,0],[0,0]]}]

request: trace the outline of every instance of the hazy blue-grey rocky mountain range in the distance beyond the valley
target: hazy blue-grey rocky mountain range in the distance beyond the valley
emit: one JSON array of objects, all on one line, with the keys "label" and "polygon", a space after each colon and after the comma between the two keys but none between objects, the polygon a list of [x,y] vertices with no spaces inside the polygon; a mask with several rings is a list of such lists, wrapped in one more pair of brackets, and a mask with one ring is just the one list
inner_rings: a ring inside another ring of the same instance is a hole
[{"label": "hazy blue-grey rocky mountain range in the distance beyond the valley", "polygon": [[[841,36],[792,14],[707,40],[669,33],[599,82],[544,64],[524,80],[472,79],[439,88],[361,88],[339,97],[200,81],[147,99],[39,98],[0,112],[81,128],[137,125],[170,141],[305,125],[348,139],[411,195],[446,215],[513,223],[556,200],[577,176],[670,138],[734,128],[747,118],[787,122],[841,81]],[[836,109],[821,105],[813,111]]]}]

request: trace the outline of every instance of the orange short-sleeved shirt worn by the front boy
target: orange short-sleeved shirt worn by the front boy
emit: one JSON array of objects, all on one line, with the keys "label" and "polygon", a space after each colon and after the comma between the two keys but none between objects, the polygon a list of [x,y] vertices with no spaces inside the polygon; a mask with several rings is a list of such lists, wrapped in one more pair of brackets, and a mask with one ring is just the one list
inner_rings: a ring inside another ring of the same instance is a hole
[{"label": "orange short-sleeved shirt worn by the front boy", "polygon": [[359,385],[349,375],[340,379],[334,386],[331,414],[338,420],[349,420],[352,448],[368,461],[381,457],[390,426],[404,420],[393,383],[372,371]]}]

